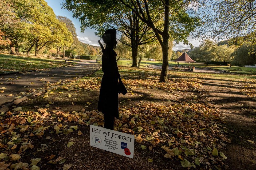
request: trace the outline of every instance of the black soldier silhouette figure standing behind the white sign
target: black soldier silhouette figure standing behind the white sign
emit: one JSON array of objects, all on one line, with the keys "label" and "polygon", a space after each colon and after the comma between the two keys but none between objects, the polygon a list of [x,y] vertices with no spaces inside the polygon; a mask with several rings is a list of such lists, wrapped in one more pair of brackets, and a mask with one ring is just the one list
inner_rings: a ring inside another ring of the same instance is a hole
[{"label": "black soldier silhouette figure standing behind the white sign", "polygon": [[121,81],[116,62],[116,29],[107,29],[102,36],[103,45],[98,41],[102,49],[103,77],[100,86],[98,111],[104,114],[104,128],[114,130],[115,117],[119,117],[118,94],[125,95],[127,90]]}]

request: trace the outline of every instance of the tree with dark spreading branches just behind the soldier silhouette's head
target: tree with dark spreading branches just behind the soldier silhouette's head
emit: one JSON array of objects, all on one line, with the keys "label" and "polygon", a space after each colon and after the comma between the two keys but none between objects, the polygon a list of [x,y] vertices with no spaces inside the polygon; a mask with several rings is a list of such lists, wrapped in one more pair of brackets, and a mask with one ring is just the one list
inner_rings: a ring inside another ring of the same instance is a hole
[{"label": "tree with dark spreading branches just behind the soldier silhouette's head", "polygon": [[[125,44],[132,50],[132,66],[137,66],[139,45],[156,40],[152,29],[119,1],[66,0],[63,6],[79,18],[82,31],[87,27],[93,28],[97,31],[96,35],[101,36],[106,29],[115,28],[128,37],[130,42]],[[154,17],[153,23],[156,24],[158,20],[159,16]],[[122,40],[120,42],[124,43]]]}]

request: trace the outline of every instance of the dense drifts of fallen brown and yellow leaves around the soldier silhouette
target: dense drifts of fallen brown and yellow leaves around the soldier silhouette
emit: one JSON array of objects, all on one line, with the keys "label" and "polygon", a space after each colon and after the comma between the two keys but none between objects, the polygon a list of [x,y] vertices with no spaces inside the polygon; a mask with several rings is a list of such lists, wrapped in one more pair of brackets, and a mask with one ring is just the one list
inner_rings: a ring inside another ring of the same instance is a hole
[{"label": "dense drifts of fallen brown and yellow leaves around the soldier silhouette", "polygon": [[[136,81],[127,79],[124,83],[131,90],[135,88],[199,89],[202,86],[197,78],[170,79],[167,83],[158,83],[147,79],[137,79]],[[86,79],[66,79],[45,85],[45,88],[49,87],[52,91],[59,88],[67,91],[94,90],[99,89],[100,78],[94,76]],[[51,90],[48,90],[45,95],[53,94]],[[158,149],[164,158],[180,160],[183,167],[222,168],[227,158],[224,153],[218,150],[221,151],[225,148],[227,141],[222,130],[225,121],[213,104],[199,102],[198,99],[193,100],[195,101],[166,106],[141,103],[133,108],[122,108],[120,109],[120,117],[115,121],[115,130],[135,135],[136,142],[141,145],[141,149],[150,152]],[[45,131],[68,135],[69,133],[77,133],[74,130],[78,129],[78,126],[89,126],[90,124],[103,126],[104,124],[104,116],[101,112],[85,111],[85,109],[79,112],[63,112],[39,108],[37,111],[22,112],[20,108],[17,108],[10,114],[2,116],[4,117],[1,119],[0,131],[2,138],[8,140],[1,143],[1,148],[3,148],[1,158],[9,160],[4,164],[10,163],[12,168],[28,166],[22,162],[15,163],[9,158],[11,154],[22,154],[31,150],[34,147],[33,143],[31,144],[32,139],[42,138]],[[55,119],[56,122],[58,119],[77,125],[70,127],[62,124],[44,126],[44,121],[47,121],[46,117]],[[78,131],[77,135],[81,134],[82,132]],[[73,145],[74,142],[70,141],[67,146]],[[14,149],[10,152],[9,149],[13,147]],[[41,147],[42,151],[44,147]],[[52,161],[52,163],[58,164],[59,162]],[[64,167],[70,168],[70,164],[65,164]]]}]

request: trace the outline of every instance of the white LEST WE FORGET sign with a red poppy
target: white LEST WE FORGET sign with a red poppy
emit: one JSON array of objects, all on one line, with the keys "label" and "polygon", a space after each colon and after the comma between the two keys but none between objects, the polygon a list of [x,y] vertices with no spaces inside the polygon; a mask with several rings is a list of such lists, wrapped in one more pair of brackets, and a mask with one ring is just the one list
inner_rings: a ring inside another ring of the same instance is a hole
[{"label": "white LEST WE FORGET sign with a red poppy", "polygon": [[134,136],[130,134],[90,125],[90,145],[133,158]]}]

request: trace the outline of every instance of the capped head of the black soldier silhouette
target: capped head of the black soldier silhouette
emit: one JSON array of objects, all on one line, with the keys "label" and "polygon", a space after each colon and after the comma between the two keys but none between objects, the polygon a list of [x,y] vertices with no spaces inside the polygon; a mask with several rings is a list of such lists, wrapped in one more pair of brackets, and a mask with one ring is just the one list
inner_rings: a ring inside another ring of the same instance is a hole
[{"label": "capped head of the black soldier silhouette", "polygon": [[106,48],[116,48],[116,29],[107,29],[102,36],[102,40],[107,44]]}]

